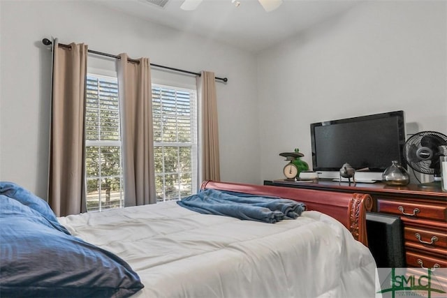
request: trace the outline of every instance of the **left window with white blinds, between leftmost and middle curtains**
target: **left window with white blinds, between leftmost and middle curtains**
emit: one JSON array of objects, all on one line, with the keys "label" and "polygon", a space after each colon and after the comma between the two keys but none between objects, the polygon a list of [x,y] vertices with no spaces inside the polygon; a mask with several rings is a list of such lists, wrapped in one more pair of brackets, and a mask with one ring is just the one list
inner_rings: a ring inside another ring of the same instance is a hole
[{"label": "left window with white blinds, between leftmost and middle curtains", "polygon": [[116,77],[87,75],[85,146],[87,211],[123,207]]}]

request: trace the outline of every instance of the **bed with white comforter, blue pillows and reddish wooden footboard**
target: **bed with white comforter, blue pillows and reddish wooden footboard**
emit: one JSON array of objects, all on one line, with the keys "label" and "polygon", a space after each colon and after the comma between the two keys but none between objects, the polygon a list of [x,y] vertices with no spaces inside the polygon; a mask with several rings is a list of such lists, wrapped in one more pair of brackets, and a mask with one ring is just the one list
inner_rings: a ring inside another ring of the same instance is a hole
[{"label": "bed with white comforter, blue pillows and reddish wooden footboard", "polygon": [[369,195],[204,181],[305,205],[277,223],[200,214],[177,202],[56,218],[0,184],[1,297],[374,297]]}]

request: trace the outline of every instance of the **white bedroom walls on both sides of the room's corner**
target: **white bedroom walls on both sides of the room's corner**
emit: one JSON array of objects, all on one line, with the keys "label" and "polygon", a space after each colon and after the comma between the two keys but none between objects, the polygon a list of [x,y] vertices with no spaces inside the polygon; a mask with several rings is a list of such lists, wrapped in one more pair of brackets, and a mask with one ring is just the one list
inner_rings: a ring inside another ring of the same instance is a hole
[{"label": "white bedroom walls on both sides of the room's corner", "polygon": [[227,76],[228,84],[217,83],[223,181],[280,178],[278,154],[296,147],[311,164],[316,121],[404,110],[407,133],[447,133],[446,6],[362,1],[256,57],[89,1],[1,0],[0,180],[46,195],[51,70],[41,40],[51,36]]}]

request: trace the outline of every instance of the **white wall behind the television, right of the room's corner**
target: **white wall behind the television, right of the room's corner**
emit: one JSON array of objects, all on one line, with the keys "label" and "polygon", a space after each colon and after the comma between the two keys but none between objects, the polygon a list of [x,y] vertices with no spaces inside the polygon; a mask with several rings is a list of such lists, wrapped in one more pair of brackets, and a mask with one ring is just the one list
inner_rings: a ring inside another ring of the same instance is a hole
[{"label": "white wall behind the television, right of the room's corner", "polygon": [[406,133],[447,134],[447,3],[364,1],[258,55],[261,179],[280,152],[312,167],[309,124],[404,110]]}]

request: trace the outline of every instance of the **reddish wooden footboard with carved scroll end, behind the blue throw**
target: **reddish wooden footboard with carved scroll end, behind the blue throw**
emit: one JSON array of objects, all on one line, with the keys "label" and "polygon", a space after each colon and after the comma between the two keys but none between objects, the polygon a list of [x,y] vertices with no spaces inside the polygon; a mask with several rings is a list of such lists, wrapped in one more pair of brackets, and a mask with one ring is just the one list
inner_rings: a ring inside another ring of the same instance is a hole
[{"label": "reddish wooden footboard with carved scroll end, behind the blue throw", "polygon": [[368,245],[366,212],[372,209],[370,195],[205,180],[200,189],[207,188],[252,195],[270,195],[303,202],[306,204],[306,210],[319,211],[337,219],[348,228],[356,240],[365,246]]}]

